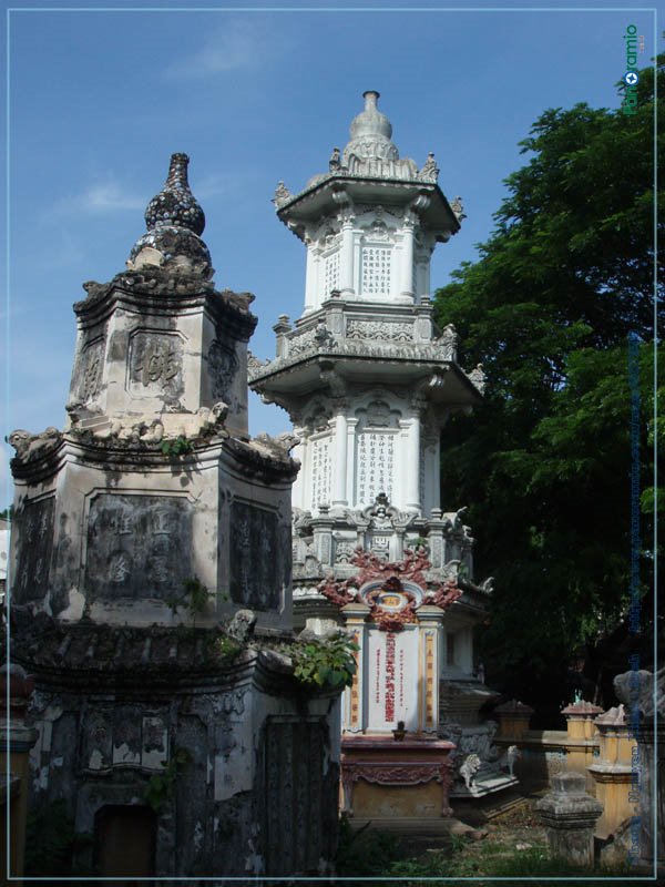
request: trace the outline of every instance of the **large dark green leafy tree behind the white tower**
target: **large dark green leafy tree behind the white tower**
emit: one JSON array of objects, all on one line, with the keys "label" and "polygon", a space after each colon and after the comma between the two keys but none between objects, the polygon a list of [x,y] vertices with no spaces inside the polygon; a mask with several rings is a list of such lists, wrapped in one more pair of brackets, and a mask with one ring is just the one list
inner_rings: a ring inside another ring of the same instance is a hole
[{"label": "large dark green leafy tree behind the white tower", "polygon": [[[662,96],[663,59],[658,86]],[[641,72],[634,115],[586,104],[545,111],[521,142],[530,160],[507,180],[479,261],[436,297],[439,322],[460,333],[462,361],[481,363],[488,383],[484,405],[444,430],[443,504],[470,506],[477,572],[495,577],[481,655],[526,702],[565,697],[574,651],[593,652],[622,626],[632,640],[636,389],[645,541],[658,434],[653,120],[653,68]],[[641,343],[638,378],[628,374],[628,335]],[[652,557],[643,552],[646,601]],[[624,657],[615,671],[626,667]]]}]

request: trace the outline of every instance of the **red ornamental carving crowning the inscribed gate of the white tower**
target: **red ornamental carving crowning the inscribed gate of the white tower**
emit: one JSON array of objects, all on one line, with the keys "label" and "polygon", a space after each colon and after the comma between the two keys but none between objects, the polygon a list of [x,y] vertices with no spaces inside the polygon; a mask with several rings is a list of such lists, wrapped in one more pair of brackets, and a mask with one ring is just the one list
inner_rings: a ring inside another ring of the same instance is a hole
[{"label": "red ornamental carving crowning the inscribed gate of the white tower", "polygon": [[[358,599],[358,593],[362,585],[368,582],[383,580],[380,587],[372,589],[367,595],[367,602],[370,605],[369,618],[376,622],[382,631],[401,631],[407,623],[418,621],[417,611],[419,606],[416,595],[403,588],[402,580],[413,582],[420,585],[420,588],[427,589],[428,582],[424,570],[431,567],[431,563],[424,554],[424,550],[421,548],[416,551],[406,549],[405,554],[406,557],[402,561],[387,562],[382,561],[371,551],[357,548],[350,563],[360,568],[358,573],[345,581],[337,581],[335,577],[330,574],[321,582],[319,591],[325,598],[337,604],[337,606],[345,606],[347,603],[351,603],[351,601]],[[407,600],[406,605],[398,611],[383,608],[380,603],[380,597],[385,592],[400,594]],[[456,580],[447,579],[433,589],[430,588],[423,603],[434,604],[444,610],[457,601],[461,594],[462,592],[458,588]]]}]

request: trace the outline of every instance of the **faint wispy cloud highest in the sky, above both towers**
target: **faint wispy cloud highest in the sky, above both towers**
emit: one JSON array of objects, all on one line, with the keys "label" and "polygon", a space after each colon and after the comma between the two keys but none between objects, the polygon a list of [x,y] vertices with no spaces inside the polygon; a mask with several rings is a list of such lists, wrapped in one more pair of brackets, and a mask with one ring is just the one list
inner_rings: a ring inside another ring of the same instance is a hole
[{"label": "faint wispy cloud highest in the sky, above both towers", "polygon": [[215,31],[196,52],[168,65],[168,80],[197,79],[248,68],[265,59],[268,42],[264,29],[253,20],[233,20]]}]

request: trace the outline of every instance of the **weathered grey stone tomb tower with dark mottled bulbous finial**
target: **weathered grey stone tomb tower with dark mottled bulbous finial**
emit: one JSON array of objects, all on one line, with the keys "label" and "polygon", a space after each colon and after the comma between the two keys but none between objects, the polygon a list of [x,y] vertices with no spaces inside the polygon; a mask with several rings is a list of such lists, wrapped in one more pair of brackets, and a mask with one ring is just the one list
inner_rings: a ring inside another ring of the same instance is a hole
[{"label": "weathered grey stone tomb tower with dark mottled bulbous finial", "polygon": [[32,806],[64,802],[93,836],[76,861],[100,875],[318,874],[336,696],[306,693],[275,652],[297,465],[248,438],[253,297],[212,283],[187,163],[173,155],[127,269],[74,306],[64,431],[10,438]]}]

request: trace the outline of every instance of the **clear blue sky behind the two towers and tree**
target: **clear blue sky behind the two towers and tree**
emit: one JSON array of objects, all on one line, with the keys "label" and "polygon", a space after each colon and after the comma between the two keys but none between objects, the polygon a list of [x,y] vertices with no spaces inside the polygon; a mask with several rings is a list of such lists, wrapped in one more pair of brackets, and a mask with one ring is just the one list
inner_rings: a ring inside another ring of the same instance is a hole
[{"label": "clear blue sky behind the two towers and tree", "polygon": [[[490,234],[533,121],[576,102],[617,106],[627,24],[645,37],[640,67],[654,55],[654,14],[640,2],[516,12],[427,0],[419,10],[369,0],[367,11],[316,2],[310,11],[242,2],[176,11],[150,0],[103,4],[116,11],[11,6],[2,435],[62,427],[72,303],[84,281],[123,269],[171,153],[190,154],[217,287],[256,295],[250,347],[269,357],[272,326],[279,314],[299,316],[305,279],[304,246],[270,197],[278,180],[298,191],[327,169],[365,90],[381,93],[401,155],[420,165],[433,151],[443,192],[463,198],[462,231],[434,254],[436,287]],[[252,434],[276,434],[288,417],[254,399],[250,424]],[[6,460],[0,469],[7,478]],[[8,482],[0,493],[2,508]]]}]

